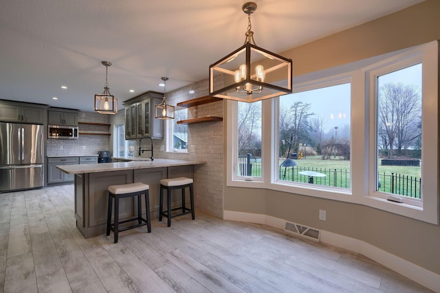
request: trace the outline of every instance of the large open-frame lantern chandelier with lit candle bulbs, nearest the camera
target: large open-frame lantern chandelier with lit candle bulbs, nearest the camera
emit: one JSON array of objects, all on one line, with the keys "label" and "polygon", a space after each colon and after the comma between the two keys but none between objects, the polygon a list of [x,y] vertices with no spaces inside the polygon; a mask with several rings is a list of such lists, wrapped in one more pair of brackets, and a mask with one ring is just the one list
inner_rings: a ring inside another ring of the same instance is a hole
[{"label": "large open-frame lantern chandelier with lit candle bulbs, nearest the camera", "polygon": [[257,47],[250,14],[256,3],[242,6],[248,14],[245,43],[209,67],[210,96],[256,102],[292,93],[292,59]]}]

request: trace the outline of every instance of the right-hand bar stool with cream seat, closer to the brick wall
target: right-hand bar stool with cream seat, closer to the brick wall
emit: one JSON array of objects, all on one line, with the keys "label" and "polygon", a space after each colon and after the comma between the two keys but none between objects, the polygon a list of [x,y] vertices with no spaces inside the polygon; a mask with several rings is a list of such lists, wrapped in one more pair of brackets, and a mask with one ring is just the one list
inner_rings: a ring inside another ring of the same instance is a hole
[{"label": "right-hand bar stool with cream seat, closer to the brick wall", "polygon": [[[159,199],[159,221],[162,221],[162,216],[164,215],[168,218],[168,227],[171,226],[171,218],[178,217],[179,215],[186,215],[191,213],[192,220],[195,219],[194,213],[194,195],[192,191],[192,179],[186,177],[179,178],[168,178],[160,180],[160,199]],[[185,188],[190,188],[190,204],[191,209],[186,207],[185,202]],[[164,211],[164,189],[167,190],[167,211]],[[176,207],[171,209],[171,194],[174,189],[181,189],[181,207]],[[177,211],[181,209],[181,213],[171,214],[172,211]]]}]

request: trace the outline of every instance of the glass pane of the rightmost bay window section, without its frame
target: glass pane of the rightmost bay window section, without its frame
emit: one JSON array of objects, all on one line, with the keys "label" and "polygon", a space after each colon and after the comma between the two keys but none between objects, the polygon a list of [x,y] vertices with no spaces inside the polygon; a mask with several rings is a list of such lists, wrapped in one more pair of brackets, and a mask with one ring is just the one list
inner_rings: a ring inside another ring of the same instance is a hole
[{"label": "glass pane of the rightmost bay window section, without its frame", "polygon": [[376,89],[376,191],[421,198],[421,63],[377,76]]}]

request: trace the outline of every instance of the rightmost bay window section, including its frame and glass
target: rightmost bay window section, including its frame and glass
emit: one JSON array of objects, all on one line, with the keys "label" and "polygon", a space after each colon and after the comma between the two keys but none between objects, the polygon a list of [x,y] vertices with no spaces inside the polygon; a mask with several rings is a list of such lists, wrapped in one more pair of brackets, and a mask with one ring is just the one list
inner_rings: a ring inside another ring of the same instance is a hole
[{"label": "rightmost bay window section, including its frame and glass", "polygon": [[420,45],[365,71],[369,190],[363,202],[437,224],[438,44]]}]

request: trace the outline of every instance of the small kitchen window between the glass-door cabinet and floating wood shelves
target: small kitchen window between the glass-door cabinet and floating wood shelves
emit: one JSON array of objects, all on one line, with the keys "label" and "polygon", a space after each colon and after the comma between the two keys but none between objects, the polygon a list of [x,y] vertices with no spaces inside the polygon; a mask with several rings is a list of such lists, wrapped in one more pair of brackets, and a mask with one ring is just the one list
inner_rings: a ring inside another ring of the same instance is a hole
[{"label": "small kitchen window between the glass-door cabinet and floating wood shelves", "polygon": [[188,109],[181,108],[174,112],[175,119],[168,120],[168,152],[188,152],[188,125],[177,124],[177,121],[188,119]]}]

